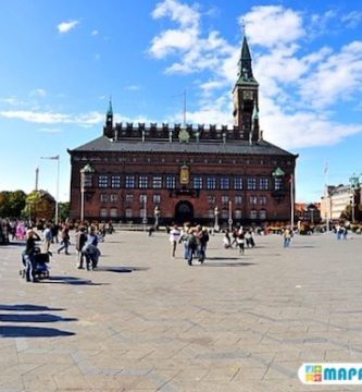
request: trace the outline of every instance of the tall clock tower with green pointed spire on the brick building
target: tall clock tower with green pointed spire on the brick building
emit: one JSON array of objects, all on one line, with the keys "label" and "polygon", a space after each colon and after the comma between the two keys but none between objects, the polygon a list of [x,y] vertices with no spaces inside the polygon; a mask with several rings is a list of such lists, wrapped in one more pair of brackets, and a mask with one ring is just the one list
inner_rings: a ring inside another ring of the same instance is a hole
[{"label": "tall clock tower with green pointed spire on the brick building", "polygon": [[259,137],[259,83],[252,74],[251,56],[246,36],[238,62],[238,79],[233,89],[234,125],[241,139],[250,143]]}]

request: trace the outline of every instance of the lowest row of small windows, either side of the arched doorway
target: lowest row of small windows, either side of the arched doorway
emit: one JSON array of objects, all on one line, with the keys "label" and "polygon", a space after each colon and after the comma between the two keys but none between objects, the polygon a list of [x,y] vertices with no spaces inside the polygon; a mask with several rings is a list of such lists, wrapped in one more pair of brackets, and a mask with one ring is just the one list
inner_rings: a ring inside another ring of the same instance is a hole
[{"label": "lowest row of small windows, either side of the arched doorway", "polygon": [[[100,217],[101,218],[120,218],[118,215],[118,209],[117,208],[101,208],[100,209]],[[208,211],[208,218],[209,219],[214,219],[214,210],[211,209]],[[229,212],[227,209],[222,209],[221,210],[221,215],[220,215],[221,219],[229,219]],[[125,209],[125,218],[126,219],[133,219],[133,218],[147,218],[147,210],[145,210],[143,208],[139,209],[138,216],[134,213],[134,210],[132,208],[126,208]],[[234,220],[240,220],[242,219],[242,212],[239,209],[236,209],[233,213],[233,219]],[[261,220],[265,220],[266,219],[266,210],[264,209],[252,209],[249,212],[249,217],[245,217],[245,218],[249,218],[249,219],[261,219]]]}]

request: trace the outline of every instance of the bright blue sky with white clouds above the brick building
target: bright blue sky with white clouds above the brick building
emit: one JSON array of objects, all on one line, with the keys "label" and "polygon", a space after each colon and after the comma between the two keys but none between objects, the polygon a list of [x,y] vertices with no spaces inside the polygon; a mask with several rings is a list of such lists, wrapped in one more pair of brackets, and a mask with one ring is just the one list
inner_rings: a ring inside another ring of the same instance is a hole
[{"label": "bright blue sky with white clouds above the brick building", "polygon": [[[294,154],[297,201],[361,173],[361,1],[1,0],[0,191],[70,193],[70,156],[117,122],[232,124],[242,21],[264,138]],[[324,170],[328,167],[327,175]]]}]

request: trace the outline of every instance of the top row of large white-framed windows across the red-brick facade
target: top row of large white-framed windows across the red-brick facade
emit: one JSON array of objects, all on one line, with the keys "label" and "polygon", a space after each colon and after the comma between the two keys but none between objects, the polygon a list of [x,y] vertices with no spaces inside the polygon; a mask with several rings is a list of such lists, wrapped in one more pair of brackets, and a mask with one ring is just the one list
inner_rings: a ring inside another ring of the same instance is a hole
[{"label": "top row of large white-framed windows across the red-brick facade", "polygon": [[[125,188],[153,188],[160,189],[162,187],[174,189],[176,187],[176,175],[125,175],[123,179],[121,175],[107,175],[100,174],[98,176],[98,187],[100,188],[121,188],[123,185]],[[235,189],[242,191],[244,188],[248,191],[267,191],[270,188],[270,179],[269,177],[241,177],[241,176],[202,176],[194,175],[191,179],[191,184],[195,189]],[[283,188],[283,179],[275,177],[273,179],[273,188],[275,191]],[[91,183],[86,184],[85,186],[91,186]]]}]

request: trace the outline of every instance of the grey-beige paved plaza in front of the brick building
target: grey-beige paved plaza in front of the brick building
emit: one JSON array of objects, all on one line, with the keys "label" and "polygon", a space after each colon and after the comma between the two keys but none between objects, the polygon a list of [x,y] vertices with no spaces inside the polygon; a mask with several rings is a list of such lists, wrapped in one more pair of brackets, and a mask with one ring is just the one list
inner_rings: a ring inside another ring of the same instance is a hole
[{"label": "grey-beige paved plaza in front of the brick building", "polygon": [[[255,236],[188,267],[167,235],[116,232],[96,271],[71,256],[18,277],[0,247],[0,392],[358,391],[303,385],[302,363],[362,363],[362,236]],[[55,249],[55,246],[52,246]]]}]

